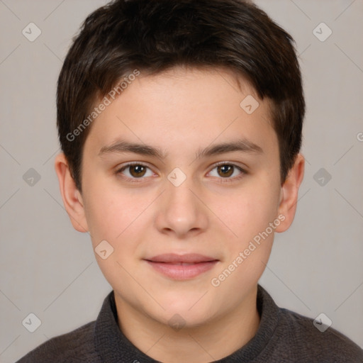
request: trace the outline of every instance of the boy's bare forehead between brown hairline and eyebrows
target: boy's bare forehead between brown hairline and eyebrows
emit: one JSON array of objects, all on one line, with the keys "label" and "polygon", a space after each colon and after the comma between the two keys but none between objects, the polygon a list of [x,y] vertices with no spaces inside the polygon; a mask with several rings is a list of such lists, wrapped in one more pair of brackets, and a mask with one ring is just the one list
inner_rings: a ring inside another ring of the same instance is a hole
[{"label": "boy's bare forehead between brown hairline and eyebrows", "polygon": [[120,138],[179,152],[237,138],[267,150],[277,146],[269,100],[225,69],[141,72],[99,114],[86,144],[99,153]]}]

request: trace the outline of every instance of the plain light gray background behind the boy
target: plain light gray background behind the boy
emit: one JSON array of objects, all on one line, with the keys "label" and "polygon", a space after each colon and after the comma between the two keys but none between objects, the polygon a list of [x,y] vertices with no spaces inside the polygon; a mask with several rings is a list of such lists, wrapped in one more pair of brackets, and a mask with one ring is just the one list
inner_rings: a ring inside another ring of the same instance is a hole
[{"label": "plain light gray background behind the boy", "polygon": [[[363,347],[363,1],[256,2],[294,36],[308,106],[296,218],[275,235],[260,283],[279,306],[323,312]],[[111,291],[89,235],[69,222],[53,167],[62,60],[105,3],[0,0],[0,362],[94,320]],[[33,42],[22,34],[30,22],[42,32]],[[324,42],[313,34],[321,22],[333,30]],[[33,186],[23,179],[30,168],[40,174]],[[323,186],[320,168],[324,183],[332,178]],[[29,313],[42,322],[34,333],[22,325]]]}]

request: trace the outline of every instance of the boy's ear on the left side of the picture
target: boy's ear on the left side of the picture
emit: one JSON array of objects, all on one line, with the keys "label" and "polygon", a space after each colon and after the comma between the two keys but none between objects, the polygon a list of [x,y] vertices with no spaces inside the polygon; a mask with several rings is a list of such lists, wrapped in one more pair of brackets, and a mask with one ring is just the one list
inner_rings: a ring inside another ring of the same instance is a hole
[{"label": "boy's ear on the left side of the picture", "polygon": [[82,195],[76,187],[67,159],[63,153],[55,157],[55,172],[60,183],[60,194],[62,194],[63,204],[73,228],[79,232],[87,232],[88,225],[84,213]]}]

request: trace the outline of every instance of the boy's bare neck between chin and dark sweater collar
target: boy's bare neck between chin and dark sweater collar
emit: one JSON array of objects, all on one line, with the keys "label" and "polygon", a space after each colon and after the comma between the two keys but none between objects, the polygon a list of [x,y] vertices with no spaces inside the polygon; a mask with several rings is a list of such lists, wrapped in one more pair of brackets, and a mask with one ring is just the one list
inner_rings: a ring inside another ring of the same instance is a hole
[{"label": "boy's bare neck between chin and dark sweater collar", "polygon": [[125,337],[152,359],[164,363],[207,363],[243,347],[259,327],[257,286],[232,311],[199,326],[174,330],[116,297],[118,325]]}]

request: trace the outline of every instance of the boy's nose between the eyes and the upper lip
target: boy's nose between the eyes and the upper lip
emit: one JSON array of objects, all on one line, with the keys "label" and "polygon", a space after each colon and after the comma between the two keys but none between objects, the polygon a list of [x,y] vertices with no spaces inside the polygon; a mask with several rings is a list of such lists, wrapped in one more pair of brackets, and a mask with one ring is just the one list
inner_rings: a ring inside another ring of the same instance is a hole
[{"label": "boy's nose between the eyes and the upper lip", "polygon": [[160,196],[155,224],[160,233],[174,238],[198,235],[208,227],[208,208],[203,203],[200,189],[189,178],[179,186],[169,180]]}]

